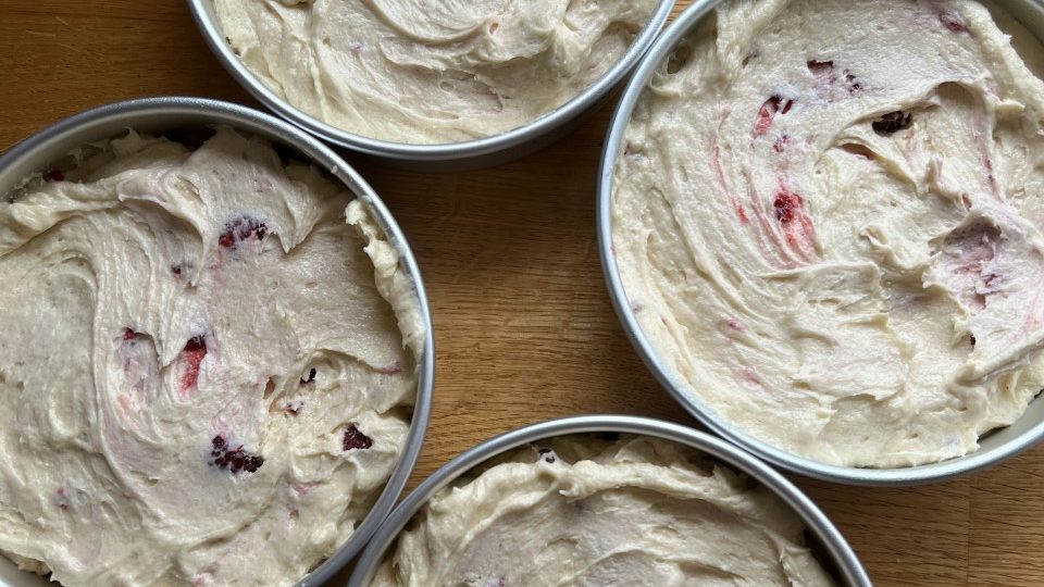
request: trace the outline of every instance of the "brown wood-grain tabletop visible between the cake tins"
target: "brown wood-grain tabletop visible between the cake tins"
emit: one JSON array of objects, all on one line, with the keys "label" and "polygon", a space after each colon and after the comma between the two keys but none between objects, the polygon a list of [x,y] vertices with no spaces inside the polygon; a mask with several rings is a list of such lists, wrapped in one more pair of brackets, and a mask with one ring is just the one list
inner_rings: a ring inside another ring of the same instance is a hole
[{"label": "brown wood-grain tabletop visible between the cake tins", "polygon": [[[257,104],[211,55],[183,0],[0,0],[0,148],[77,111],[152,95]],[[602,283],[595,175],[609,113],[486,171],[357,161],[413,246],[435,320],[435,407],[411,487],[490,436],[554,416],[694,424],[632,350]],[[924,487],[795,480],[877,585],[1044,585],[1042,447]]]}]

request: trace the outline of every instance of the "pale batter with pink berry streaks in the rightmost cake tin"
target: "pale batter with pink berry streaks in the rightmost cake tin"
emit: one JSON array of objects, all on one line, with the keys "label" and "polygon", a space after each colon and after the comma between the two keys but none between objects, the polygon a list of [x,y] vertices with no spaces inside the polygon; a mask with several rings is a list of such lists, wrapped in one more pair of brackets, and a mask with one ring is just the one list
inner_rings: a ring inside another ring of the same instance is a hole
[{"label": "pale batter with pink berry streaks in the rightmost cake tin", "polygon": [[906,466],[1042,388],[1041,47],[998,18],[1022,57],[974,2],[734,1],[661,65],[613,245],[652,346],[731,425]]}]

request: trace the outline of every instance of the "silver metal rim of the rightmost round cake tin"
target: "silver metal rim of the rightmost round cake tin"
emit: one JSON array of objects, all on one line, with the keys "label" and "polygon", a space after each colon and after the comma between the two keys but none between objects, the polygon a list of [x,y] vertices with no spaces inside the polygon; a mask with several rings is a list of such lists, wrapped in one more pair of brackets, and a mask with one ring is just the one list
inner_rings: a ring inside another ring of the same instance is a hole
[{"label": "silver metal rim of the rightmost round cake tin", "polygon": [[[612,305],[643,361],[660,385],[713,433],[774,465],[823,480],[866,486],[902,486],[941,482],[991,466],[1032,447],[1044,437],[1044,401],[1040,397],[1030,402],[1026,413],[1015,423],[984,435],[980,438],[979,450],[964,457],[939,463],[896,469],[862,469],[821,463],[772,447],[731,424],[704,403],[692,391],[691,386],[673,373],[673,370],[656,352],[631,309],[613,253],[613,172],[617,158],[622,151],[623,137],[631,121],[631,114],[652,74],[671,55],[678,43],[699,27],[703,18],[709,15],[718,3],[718,0],[696,0],[660,36],[624,89],[623,97],[613,113],[609,136],[602,151],[597,202],[599,254]],[[984,4],[1006,11],[1039,38],[1041,32],[1044,32],[1044,3],[1041,1],[997,0],[984,2]]]}]

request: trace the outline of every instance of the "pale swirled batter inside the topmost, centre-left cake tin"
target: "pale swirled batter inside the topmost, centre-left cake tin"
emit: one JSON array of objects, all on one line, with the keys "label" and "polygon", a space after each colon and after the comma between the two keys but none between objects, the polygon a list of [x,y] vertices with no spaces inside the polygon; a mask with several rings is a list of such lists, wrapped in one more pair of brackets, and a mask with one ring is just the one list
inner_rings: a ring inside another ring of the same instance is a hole
[{"label": "pale swirled batter inside the topmost, centre-left cake tin", "polygon": [[614,65],[655,0],[214,0],[261,82],[338,128],[409,143],[483,138]]}]

